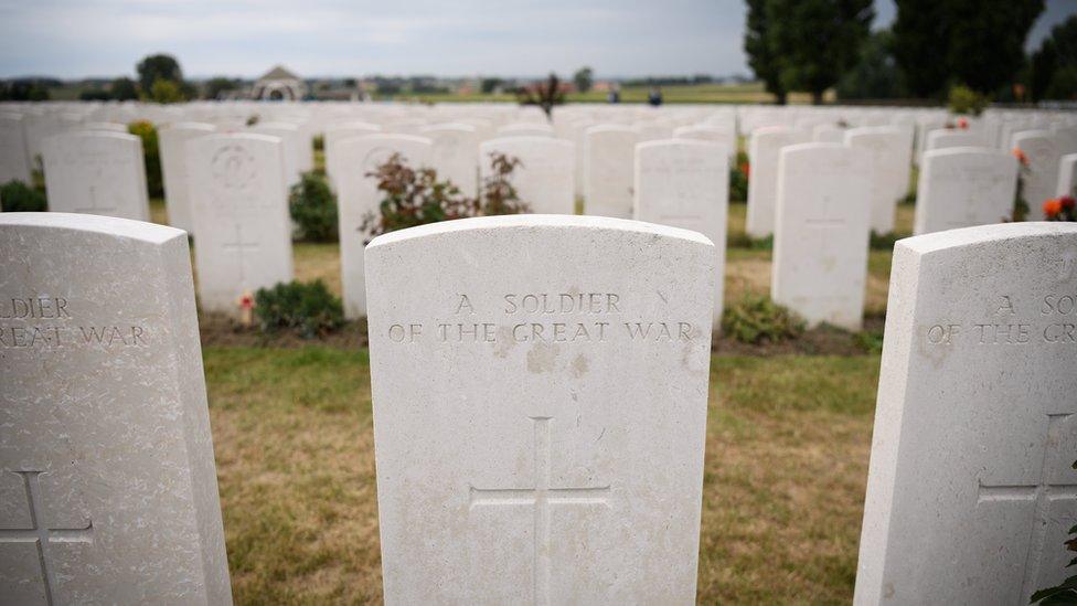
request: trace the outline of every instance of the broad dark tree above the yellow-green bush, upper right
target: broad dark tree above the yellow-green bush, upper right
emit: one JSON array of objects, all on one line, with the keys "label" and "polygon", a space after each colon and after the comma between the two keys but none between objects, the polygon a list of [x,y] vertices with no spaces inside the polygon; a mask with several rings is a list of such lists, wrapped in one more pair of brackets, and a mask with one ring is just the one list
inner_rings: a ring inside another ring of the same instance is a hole
[{"label": "broad dark tree above the yellow-green bush, upper right", "polygon": [[1025,62],[1025,39],[1044,0],[949,0],[947,63],[956,82],[989,95]]}]

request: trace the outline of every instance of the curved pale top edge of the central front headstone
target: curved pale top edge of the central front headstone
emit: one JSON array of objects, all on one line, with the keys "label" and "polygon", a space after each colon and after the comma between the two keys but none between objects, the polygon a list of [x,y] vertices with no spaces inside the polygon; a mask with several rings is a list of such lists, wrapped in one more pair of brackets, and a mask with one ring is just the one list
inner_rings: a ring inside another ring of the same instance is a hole
[{"label": "curved pale top edge of the central front headstone", "polygon": [[380,246],[386,246],[422,237],[513,227],[520,230],[576,228],[594,232],[635,232],[639,234],[651,234],[658,237],[695,242],[705,246],[714,246],[710,238],[699,232],[681,230],[679,227],[669,227],[667,225],[657,225],[654,223],[646,223],[643,221],[568,214],[510,214],[501,216],[460,219],[457,221],[442,221],[439,223],[419,225],[417,227],[408,227],[406,230],[399,230],[375,237],[370,244],[366,245],[366,249],[372,251]]}]

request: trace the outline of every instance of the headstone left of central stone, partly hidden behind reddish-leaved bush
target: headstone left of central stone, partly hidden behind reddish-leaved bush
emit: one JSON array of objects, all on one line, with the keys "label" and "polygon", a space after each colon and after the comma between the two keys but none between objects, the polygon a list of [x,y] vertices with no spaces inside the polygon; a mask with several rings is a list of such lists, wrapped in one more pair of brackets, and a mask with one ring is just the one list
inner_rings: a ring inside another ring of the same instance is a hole
[{"label": "headstone left of central stone, partly hidden behind reddish-leaved bush", "polygon": [[340,167],[337,179],[340,221],[340,274],[344,315],[355,319],[366,315],[364,247],[370,235],[362,232],[363,219],[376,213],[381,204],[377,181],[367,173],[377,170],[394,153],[408,167],[418,169],[430,163],[434,143],[414,135],[367,135],[344,139],[337,145]]}]

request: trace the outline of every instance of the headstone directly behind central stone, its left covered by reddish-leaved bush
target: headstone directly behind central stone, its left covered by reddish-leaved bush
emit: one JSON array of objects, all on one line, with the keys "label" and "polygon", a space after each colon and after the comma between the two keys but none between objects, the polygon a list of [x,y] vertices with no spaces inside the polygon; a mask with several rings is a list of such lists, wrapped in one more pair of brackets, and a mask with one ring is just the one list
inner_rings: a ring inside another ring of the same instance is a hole
[{"label": "headstone directly behind central stone, its left covered by reddish-leaved bush", "polygon": [[504,137],[483,141],[479,161],[483,178],[490,174],[490,155],[503,153],[521,164],[512,174],[512,185],[531,212],[575,214],[576,150],[572,141],[553,137]]}]

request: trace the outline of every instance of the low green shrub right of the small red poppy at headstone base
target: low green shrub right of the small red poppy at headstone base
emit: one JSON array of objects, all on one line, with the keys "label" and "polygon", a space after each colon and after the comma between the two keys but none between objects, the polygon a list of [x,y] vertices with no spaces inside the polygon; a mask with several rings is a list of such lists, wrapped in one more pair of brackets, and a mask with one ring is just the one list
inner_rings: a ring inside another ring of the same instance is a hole
[{"label": "low green shrub right of the small red poppy at headstone base", "polygon": [[254,296],[254,312],[264,332],[295,330],[306,339],[334,332],[344,325],[340,298],[321,280],[292,280],[259,288]]}]

